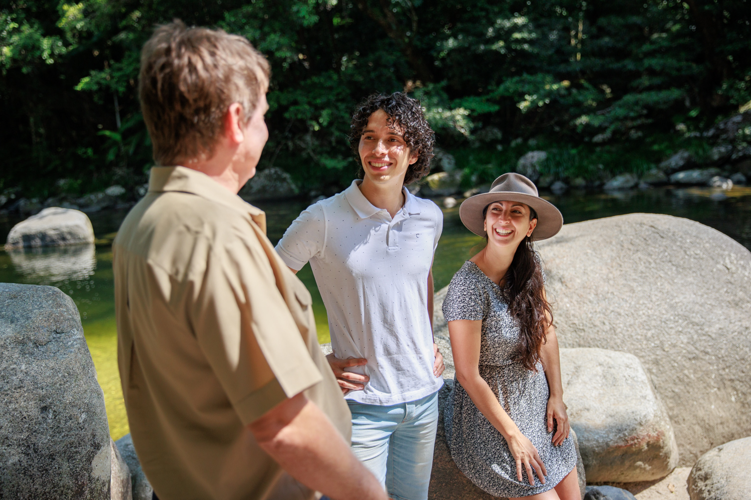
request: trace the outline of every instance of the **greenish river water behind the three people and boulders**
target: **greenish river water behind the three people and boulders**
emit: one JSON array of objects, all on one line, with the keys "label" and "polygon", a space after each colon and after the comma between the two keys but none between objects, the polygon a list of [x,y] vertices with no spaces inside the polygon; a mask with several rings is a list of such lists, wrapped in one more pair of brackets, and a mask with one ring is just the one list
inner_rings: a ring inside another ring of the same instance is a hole
[{"label": "greenish river water behind the three people and boulders", "polygon": [[[563,214],[566,223],[613,215],[647,212],[686,217],[724,232],[751,250],[751,187],[722,191],[709,187],[656,188],[625,193],[586,193],[569,191],[562,195],[543,193]],[[306,202],[261,202],[267,213],[268,236],[276,244]],[[114,237],[127,211],[90,214],[98,244],[91,247],[59,249],[0,250],[0,282],[57,286],[73,298],[83,323],[86,342],[92,353],[98,381],[104,390],[110,434],[119,439],[128,433],[116,359],[116,328],[113,302],[112,250]],[[433,276],[436,290],[448,285],[472,249],[482,239],[464,228],[459,207],[444,209],[443,235],[436,250]],[[0,215],[0,236],[5,236],[19,220]],[[315,286],[310,266],[297,274],[313,296],[318,340],[329,340],[326,309]]]}]

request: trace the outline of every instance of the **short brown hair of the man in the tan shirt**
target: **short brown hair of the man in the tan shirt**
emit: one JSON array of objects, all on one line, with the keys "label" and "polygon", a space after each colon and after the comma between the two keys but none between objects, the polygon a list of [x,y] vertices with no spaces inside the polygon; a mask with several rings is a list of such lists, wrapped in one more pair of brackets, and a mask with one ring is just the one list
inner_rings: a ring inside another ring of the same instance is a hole
[{"label": "short brown hair of the man in the tan shirt", "polygon": [[269,63],[245,37],[189,28],[179,19],[161,25],[141,51],[138,91],[157,165],[212,157],[232,103],[251,118],[267,91]]}]

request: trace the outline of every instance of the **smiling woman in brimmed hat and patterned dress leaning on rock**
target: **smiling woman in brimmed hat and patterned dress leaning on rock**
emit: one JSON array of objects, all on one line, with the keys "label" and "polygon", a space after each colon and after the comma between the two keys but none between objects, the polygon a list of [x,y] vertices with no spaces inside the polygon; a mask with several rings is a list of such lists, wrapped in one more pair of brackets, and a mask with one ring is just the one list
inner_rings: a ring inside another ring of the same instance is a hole
[{"label": "smiling woman in brimmed hat and patterned dress leaning on rock", "polygon": [[443,302],[457,370],[445,410],[451,457],[493,496],[579,500],[558,341],[532,247],[559,232],[563,217],[515,173],[459,213],[487,245],[454,275]]}]

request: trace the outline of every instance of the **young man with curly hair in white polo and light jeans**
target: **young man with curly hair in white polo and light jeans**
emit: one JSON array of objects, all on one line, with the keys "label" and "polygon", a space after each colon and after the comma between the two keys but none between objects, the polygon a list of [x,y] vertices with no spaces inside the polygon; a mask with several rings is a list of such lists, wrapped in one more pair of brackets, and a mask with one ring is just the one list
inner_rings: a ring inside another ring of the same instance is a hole
[{"label": "young man with curly hair in white polo and light jeans", "polygon": [[431,272],[443,215],[405,185],[430,171],[433,130],[417,100],[372,95],[354,112],[350,142],[363,180],[309,206],[276,251],[295,272],[311,263],[352,451],[391,498],[425,500],[443,384]]}]

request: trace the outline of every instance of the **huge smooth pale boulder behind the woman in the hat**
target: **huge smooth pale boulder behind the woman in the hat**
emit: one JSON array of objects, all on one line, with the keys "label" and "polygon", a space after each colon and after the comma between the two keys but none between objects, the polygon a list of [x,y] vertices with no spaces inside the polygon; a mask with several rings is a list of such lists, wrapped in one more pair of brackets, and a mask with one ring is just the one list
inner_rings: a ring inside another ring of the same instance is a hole
[{"label": "huge smooth pale boulder behind the woman in the hat", "polygon": [[751,253],[680,217],[566,224],[540,241],[562,347],[629,352],[673,424],[680,465],[751,435]]}]

